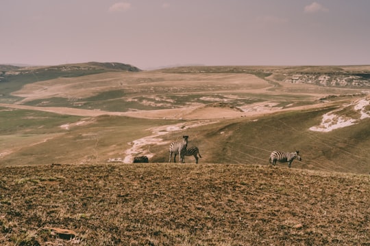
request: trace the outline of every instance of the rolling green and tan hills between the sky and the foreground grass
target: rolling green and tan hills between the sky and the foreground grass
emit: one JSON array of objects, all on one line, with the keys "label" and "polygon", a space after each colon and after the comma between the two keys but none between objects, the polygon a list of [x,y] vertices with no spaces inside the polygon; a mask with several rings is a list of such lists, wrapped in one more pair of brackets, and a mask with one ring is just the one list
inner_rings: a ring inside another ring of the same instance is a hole
[{"label": "rolling green and tan hills between the sky and the foreground grass", "polygon": [[[272,150],[300,150],[304,161],[295,161],[293,167],[369,174],[367,83],[286,79],[297,73],[332,80],[338,74],[362,74],[366,81],[368,68],[196,66],[140,71],[124,64],[88,63],[15,70],[23,72],[0,83],[17,84],[0,98],[5,102],[0,111],[1,163],[130,162],[140,154],[167,162],[169,142],[186,134],[189,145],[204,153],[205,163],[267,165]],[[35,73],[44,79],[34,81]],[[162,130],[158,133],[157,128]],[[20,137],[34,144],[17,141]],[[66,155],[77,146],[79,152]]]}]

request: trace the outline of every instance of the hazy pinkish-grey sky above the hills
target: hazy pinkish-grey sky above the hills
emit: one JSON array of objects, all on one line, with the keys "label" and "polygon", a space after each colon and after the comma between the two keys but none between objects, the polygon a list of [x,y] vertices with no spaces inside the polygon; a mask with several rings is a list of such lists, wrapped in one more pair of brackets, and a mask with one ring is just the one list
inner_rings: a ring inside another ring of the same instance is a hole
[{"label": "hazy pinkish-grey sky above the hills", "polygon": [[370,64],[369,0],[0,0],[0,64]]}]

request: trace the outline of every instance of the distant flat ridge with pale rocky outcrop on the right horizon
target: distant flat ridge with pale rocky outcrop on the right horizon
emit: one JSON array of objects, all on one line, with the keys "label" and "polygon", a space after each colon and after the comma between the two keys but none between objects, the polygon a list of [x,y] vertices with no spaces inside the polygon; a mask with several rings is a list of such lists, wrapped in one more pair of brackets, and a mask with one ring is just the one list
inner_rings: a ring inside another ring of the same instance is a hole
[{"label": "distant flat ridge with pale rocky outcrop on the right horizon", "polygon": [[169,73],[246,73],[270,83],[306,83],[323,87],[369,88],[370,66],[181,66]]}]

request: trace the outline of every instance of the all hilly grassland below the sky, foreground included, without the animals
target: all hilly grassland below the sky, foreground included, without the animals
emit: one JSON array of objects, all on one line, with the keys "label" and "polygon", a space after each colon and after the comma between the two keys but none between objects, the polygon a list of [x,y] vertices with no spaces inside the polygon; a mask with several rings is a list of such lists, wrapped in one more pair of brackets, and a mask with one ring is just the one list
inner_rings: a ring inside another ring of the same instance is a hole
[{"label": "all hilly grassland below the sky, foreground included, without the animals", "polygon": [[[367,74],[1,68],[0,244],[369,245]],[[182,135],[198,165],[168,163]]]}]

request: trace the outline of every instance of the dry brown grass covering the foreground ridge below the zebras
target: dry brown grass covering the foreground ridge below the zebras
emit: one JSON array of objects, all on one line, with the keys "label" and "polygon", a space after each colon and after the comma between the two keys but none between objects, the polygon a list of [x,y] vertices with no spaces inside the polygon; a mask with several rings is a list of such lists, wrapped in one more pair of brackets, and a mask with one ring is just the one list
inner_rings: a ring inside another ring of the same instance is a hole
[{"label": "dry brown grass covering the foreground ridge below the zebras", "polygon": [[369,176],[227,164],[0,171],[1,245],[370,244]]}]

